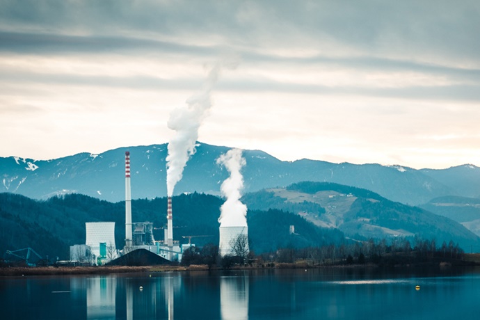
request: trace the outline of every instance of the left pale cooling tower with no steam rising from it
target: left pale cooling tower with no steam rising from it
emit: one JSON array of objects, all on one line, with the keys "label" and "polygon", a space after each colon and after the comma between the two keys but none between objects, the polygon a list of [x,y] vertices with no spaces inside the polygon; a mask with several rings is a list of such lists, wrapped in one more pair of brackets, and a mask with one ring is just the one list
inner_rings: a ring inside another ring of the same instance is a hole
[{"label": "left pale cooling tower with no steam rising from it", "polygon": [[115,249],[115,223],[114,222],[86,222],[87,237],[85,244],[95,257],[100,255],[100,243],[106,243],[107,248]]}]

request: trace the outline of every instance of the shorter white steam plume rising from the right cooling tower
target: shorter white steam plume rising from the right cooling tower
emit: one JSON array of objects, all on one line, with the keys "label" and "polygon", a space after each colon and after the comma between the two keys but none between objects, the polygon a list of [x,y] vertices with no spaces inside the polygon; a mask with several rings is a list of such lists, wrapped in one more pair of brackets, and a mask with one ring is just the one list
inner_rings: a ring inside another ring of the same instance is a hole
[{"label": "shorter white steam plume rising from the right cooling tower", "polygon": [[225,166],[230,172],[230,177],[225,179],[221,186],[226,200],[220,208],[221,214],[218,222],[221,227],[246,227],[247,206],[240,201],[243,189],[243,176],[240,170],[246,165],[246,161],[242,157],[242,150],[229,150],[218,157],[216,162]]}]

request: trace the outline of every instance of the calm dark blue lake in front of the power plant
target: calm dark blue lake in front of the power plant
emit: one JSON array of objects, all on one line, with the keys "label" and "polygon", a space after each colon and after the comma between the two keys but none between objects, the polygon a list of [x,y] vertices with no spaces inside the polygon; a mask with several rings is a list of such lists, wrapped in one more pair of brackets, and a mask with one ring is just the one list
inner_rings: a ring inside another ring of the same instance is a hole
[{"label": "calm dark blue lake in front of the power plant", "polygon": [[463,320],[479,298],[479,268],[29,276],[0,278],[0,319]]}]

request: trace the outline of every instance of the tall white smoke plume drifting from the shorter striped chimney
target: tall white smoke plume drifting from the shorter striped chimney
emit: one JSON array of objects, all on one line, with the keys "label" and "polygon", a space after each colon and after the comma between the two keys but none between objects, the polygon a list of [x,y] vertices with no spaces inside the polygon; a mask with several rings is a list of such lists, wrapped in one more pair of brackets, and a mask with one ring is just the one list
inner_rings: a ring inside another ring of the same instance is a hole
[{"label": "tall white smoke plume drifting from the shorter striped chimney", "polygon": [[173,195],[173,189],[182,179],[186,161],[195,153],[195,142],[198,139],[198,129],[211,108],[210,94],[223,67],[233,69],[237,62],[232,58],[223,58],[209,71],[202,90],[186,100],[186,106],[170,113],[167,122],[169,129],[175,130],[175,135],[168,142],[167,161],[167,195]]}]

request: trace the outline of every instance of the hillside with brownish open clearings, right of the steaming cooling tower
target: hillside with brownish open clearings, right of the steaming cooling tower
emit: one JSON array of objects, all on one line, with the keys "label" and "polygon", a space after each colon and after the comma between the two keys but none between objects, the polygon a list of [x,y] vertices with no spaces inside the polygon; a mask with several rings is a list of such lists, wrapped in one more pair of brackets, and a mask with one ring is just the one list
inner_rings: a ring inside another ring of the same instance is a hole
[{"label": "hillside with brownish open clearings, right of the steaming cooling tower", "polygon": [[392,202],[377,193],[326,182],[302,182],[287,188],[249,193],[250,209],[286,209],[321,227],[333,227],[353,239],[415,237],[458,241],[464,248],[479,237],[463,225],[418,207]]}]

